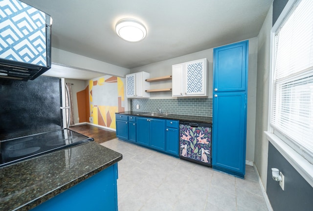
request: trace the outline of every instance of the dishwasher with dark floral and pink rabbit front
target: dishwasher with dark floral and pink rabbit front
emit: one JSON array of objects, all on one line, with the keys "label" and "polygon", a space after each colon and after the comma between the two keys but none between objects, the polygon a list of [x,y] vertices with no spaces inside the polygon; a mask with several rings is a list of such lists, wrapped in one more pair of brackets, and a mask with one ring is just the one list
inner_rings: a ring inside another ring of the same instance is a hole
[{"label": "dishwasher with dark floral and pink rabbit front", "polygon": [[198,164],[211,164],[212,124],[179,122],[179,157]]}]

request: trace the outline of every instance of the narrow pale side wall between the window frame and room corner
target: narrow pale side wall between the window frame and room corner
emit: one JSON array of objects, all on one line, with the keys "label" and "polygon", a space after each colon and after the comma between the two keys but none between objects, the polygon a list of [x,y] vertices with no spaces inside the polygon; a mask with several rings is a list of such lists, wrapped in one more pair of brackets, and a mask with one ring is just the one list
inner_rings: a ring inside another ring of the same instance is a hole
[{"label": "narrow pale side wall between the window frame and room corner", "polygon": [[270,69],[270,30],[272,27],[272,6],[258,35],[258,71],[256,92],[256,124],[254,164],[258,169],[264,188],[267,185],[268,140],[264,131],[268,129],[268,88]]}]

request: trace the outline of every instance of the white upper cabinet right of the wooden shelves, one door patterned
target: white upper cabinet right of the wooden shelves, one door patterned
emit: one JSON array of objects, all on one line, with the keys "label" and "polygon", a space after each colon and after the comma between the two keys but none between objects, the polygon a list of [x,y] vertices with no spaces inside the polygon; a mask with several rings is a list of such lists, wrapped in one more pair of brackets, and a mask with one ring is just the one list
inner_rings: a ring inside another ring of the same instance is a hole
[{"label": "white upper cabinet right of the wooden shelves, one door patterned", "polygon": [[172,96],[208,96],[207,59],[172,66]]}]

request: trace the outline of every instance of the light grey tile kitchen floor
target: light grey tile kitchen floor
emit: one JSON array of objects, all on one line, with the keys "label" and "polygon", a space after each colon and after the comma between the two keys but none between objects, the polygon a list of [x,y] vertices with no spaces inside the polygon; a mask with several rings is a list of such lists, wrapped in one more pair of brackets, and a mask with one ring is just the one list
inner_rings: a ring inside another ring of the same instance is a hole
[{"label": "light grey tile kitchen floor", "polygon": [[119,211],[268,211],[254,168],[239,179],[117,139]]}]

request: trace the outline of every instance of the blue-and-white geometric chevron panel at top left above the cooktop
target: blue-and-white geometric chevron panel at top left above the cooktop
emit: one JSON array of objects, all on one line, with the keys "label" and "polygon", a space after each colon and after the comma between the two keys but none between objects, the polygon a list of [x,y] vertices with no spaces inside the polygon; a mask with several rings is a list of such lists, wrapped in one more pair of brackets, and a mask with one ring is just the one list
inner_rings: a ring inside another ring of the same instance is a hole
[{"label": "blue-and-white geometric chevron panel at top left above the cooktop", "polygon": [[0,0],[0,58],[47,66],[45,13],[19,0]]}]

